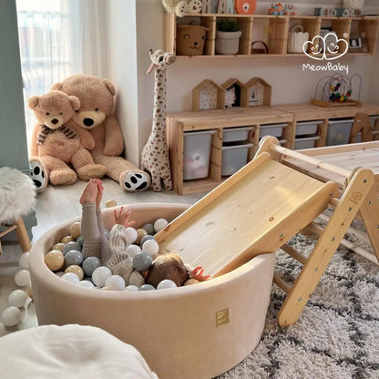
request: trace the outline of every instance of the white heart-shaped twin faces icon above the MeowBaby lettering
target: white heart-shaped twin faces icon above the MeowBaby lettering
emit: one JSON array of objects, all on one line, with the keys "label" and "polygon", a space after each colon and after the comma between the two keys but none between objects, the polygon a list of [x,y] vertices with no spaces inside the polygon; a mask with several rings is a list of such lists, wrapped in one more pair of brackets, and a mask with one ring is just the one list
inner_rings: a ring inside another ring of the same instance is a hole
[{"label": "white heart-shaped twin faces icon above the MeowBaby lettering", "polygon": [[348,49],[347,41],[343,38],[338,38],[333,32],[328,33],[326,36],[314,36],[312,41],[306,41],[302,45],[304,54],[316,60],[337,59],[344,56]]}]

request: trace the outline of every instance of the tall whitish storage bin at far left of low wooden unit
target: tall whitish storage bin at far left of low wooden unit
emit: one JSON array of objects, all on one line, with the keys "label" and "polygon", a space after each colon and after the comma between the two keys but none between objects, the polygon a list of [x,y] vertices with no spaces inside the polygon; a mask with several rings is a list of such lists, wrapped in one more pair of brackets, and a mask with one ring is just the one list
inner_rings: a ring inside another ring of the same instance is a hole
[{"label": "tall whitish storage bin at far left of low wooden unit", "polygon": [[207,178],[210,170],[210,147],[216,130],[183,133],[183,179]]}]

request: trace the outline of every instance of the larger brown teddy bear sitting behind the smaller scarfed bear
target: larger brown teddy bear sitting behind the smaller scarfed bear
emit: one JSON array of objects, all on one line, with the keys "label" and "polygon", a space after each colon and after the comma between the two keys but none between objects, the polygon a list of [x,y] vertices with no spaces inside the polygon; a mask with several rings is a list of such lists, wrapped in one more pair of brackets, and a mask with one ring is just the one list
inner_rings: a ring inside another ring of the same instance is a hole
[{"label": "larger brown teddy bear sitting behind the smaller scarfed bear", "polygon": [[75,75],[56,83],[52,89],[78,97],[80,108],[68,125],[86,128],[91,133],[95,139],[95,147],[90,149],[92,157],[107,167],[108,177],[127,191],[148,189],[149,174],[119,157],[124,150],[124,138],[118,119],[112,113],[116,95],[113,84],[108,79]]}]

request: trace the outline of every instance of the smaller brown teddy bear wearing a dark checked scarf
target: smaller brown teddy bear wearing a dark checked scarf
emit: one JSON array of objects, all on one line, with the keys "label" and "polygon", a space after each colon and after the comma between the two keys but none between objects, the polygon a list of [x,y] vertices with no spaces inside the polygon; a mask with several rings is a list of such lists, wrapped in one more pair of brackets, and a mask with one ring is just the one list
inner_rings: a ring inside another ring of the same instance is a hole
[{"label": "smaller brown teddy bear wearing a dark checked scarf", "polygon": [[[95,164],[84,148],[95,146],[91,134],[86,129],[67,127],[67,121],[80,107],[77,97],[53,90],[30,97],[27,105],[38,120],[32,134],[30,161],[31,176],[39,192],[46,188],[48,180],[53,185],[64,185],[74,183],[77,176],[88,180],[107,173],[107,168]],[[67,164],[72,164],[77,172]]]}]

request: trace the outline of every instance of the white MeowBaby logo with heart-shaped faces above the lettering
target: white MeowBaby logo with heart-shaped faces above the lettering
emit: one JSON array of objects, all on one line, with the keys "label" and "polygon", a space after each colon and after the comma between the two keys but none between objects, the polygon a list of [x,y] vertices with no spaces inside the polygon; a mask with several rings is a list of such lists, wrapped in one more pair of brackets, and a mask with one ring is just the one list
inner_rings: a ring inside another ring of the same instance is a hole
[{"label": "white MeowBaby logo with heart-shaped faces above the lettering", "polygon": [[[343,34],[347,38],[348,34]],[[332,61],[344,56],[349,50],[349,45],[344,38],[338,38],[335,33],[331,32],[325,36],[314,36],[312,41],[306,41],[302,45],[302,51],[306,56],[315,60]],[[326,65],[302,65],[302,71],[309,69],[311,71],[346,71],[349,73],[349,67],[341,65],[339,62],[333,65],[328,62]]]}]

